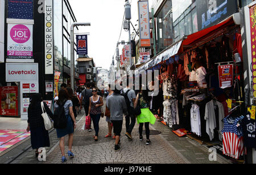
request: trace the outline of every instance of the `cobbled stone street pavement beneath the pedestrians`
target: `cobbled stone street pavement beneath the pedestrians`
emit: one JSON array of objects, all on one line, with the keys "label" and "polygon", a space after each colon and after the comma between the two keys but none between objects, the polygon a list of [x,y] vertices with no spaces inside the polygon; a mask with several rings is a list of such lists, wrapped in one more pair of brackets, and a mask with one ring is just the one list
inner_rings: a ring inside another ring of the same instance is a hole
[{"label": "cobbled stone street pavement beneath the pedestrians", "polygon": [[[83,112],[83,111],[82,111]],[[100,120],[100,132],[98,141],[94,141],[93,132],[81,130],[84,124],[84,113],[77,117],[77,128],[74,134],[73,153],[75,157],[69,159],[67,164],[187,164],[187,163],[230,163],[222,156],[217,156],[217,161],[209,161],[210,152],[202,145],[189,138],[179,138],[170,128],[156,121],[150,126],[151,145],[146,145],[146,140],[139,141],[138,124],[133,130],[133,141],[125,136],[125,122],[121,136],[121,150],[114,151],[114,139],[104,138],[108,133],[105,118]],[[161,134],[159,134],[161,132]],[[154,134],[154,135],[153,135]],[[50,134],[51,148],[47,148],[47,161],[40,162],[35,159],[34,151],[28,149],[11,163],[19,164],[61,164],[61,152],[56,131]],[[143,135],[146,138],[145,135]],[[67,152],[65,138],[65,152]]]}]

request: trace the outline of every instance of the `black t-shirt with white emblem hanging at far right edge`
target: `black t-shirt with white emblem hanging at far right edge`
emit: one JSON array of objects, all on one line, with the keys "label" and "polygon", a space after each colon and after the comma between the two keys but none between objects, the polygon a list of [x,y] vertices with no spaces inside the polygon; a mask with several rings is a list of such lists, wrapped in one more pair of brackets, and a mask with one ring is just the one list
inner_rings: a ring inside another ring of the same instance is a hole
[{"label": "black t-shirt with white emblem hanging at far right edge", "polygon": [[255,120],[251,119],[248,113],[242,121],[243,135],[247,148],[256,148],[256,125]]}]

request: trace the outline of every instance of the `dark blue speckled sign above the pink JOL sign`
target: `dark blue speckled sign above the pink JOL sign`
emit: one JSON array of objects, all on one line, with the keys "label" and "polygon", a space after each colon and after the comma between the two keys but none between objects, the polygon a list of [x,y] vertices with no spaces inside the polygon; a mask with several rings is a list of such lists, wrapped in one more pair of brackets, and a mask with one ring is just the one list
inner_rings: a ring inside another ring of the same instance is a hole
[{"label": "dark blue speckled sign above the pink JOL sign", "polygon": [[8,18],[34,19],[33,0],[8,0]]}]

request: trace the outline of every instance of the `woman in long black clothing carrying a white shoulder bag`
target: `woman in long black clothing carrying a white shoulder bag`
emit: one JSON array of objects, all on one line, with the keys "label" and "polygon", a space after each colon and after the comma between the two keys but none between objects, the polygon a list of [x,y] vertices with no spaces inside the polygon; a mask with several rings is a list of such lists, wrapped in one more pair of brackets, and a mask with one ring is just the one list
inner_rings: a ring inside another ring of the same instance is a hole
[{"label": "woman in long black clothing carrying a white shoulder bag", "polygon": [[39,148],[50,146],[48,130],[53,126],[52,118],[52,111],[43,102],[42,95],[40,93],[32,95],[28,107],[27,132],[30,131],[31,145],[32,149],[36,149],[36,157],[38,157]]}]

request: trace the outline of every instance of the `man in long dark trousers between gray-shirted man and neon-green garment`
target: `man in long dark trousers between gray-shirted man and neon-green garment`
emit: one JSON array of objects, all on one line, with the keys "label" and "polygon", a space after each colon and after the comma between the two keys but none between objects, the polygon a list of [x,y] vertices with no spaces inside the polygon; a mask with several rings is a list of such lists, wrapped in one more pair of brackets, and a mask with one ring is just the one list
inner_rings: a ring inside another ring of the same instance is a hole
[{"label": "man in long dark trousers between gray-shirted man and neon-green garment", "polygon": [[[127,93],[127,91],[128,91],[128,93]],[[129,86],[127,86],[125,89],[123,89],[123,93],[124,94],[127,93],[127,97],[129,98],[129,101],[130,101],[130,107],[128,109],[128,114],[126,114],[126,116],[125,116],[125,126],[126,126],[126,134],[125,135],[127,136],[127,138],[132,140],[133,137],[131,136],[131,132],[133,131],[133,128],[135,126],[136,117],[134,114],[131,113],[131,111],[132,111],[132,109],[134,109],[136,95],[135,95],[135,91],[130,89]]]}]

